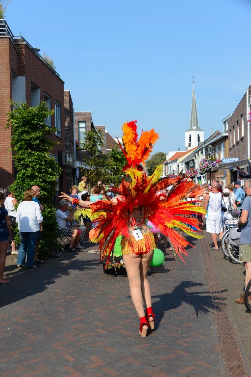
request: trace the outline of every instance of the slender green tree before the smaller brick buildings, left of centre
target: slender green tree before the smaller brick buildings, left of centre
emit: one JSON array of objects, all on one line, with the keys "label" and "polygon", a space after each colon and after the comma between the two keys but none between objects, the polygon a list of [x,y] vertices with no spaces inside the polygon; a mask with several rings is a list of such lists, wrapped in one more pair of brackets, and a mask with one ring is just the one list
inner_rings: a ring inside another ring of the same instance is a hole
[{"label": "slender green tree before the smaller brick buildings, left of centre", "polygon": [[82,168],[82,170],[91,186],[97,185],[98,181],[106,180],[107,157],[100,151],[102,145],[101,135],[97,131],[91,130],[85,133],[85,143],[82,143],[81,147],[86,151],[83,156],[83,163],[88,168]]}]

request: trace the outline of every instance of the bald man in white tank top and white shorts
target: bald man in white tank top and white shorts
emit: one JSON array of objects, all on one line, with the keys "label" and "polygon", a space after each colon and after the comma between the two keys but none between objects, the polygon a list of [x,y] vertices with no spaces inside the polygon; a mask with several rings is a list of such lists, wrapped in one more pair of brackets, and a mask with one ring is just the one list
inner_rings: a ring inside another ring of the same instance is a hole
[{"label": "bald man in white tank top and white shorts", "polygon": [[[213,181],[211,192],[205,196],[204,209],[207,210],[206,231],[211,233],[214,246],[212,250],[219,250],[217,243],[217,234],[221,238],[223,235],[221,203],[222,193],[218,191],[218,183]],[[203,215],[204,219],[204,215]]]}]

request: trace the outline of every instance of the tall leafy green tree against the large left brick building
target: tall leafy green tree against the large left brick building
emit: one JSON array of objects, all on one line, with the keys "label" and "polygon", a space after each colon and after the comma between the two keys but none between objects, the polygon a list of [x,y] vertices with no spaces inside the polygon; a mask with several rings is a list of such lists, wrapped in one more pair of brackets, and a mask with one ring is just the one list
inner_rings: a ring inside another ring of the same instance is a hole
[{"label": "tall leafy green tree against the large left brick building", "polygon": [[57,178],[61,173],[58,163],[50,157],[53,145],[48,136],[55,130],[45,124],[45,119],[53,114],[44,103],[35,108],[26,103],[10,102],[13,109],[8,112],[6,128],[11,127],[11,146],[13,161],[18,173],[11,185],[17,199],[22,201],[26,188],[37,185],[41,188],[39,200],[45,206],[43,212],[43,239],[40,242],[39,255],[50,255],[57,246],[57,223],[53,196]]}]

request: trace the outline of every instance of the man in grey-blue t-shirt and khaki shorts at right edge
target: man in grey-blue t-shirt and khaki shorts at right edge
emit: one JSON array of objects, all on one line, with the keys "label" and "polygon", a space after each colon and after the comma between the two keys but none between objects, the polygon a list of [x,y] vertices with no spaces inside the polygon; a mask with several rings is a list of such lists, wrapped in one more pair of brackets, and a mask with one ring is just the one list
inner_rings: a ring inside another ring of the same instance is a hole
[{"label": "man in grey-blue t-shirt and khaki shorts at right edge", "polygon": [[[239,185],[237,184],[237,186]],[[246,288],[251,279],[251,179],[245,182],[245,191],[247,192],[247,197],[242,204],[241,217],[239,218],[238,225],[241,226],[239,260],[243,262],[245,267]],[[244,304],[244,294],[242,294],[240,298],[237,298],[235,302],[237,304]]]}]

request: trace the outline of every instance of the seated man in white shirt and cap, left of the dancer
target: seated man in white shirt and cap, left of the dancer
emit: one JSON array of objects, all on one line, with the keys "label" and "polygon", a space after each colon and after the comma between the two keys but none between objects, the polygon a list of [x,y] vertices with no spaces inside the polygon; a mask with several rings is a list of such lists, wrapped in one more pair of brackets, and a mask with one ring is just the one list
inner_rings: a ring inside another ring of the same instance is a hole
[{"label": "seated man in white shirt and cap, left of the dancer", "polygon": [[78,232],[78,229],[76,227],[73,228],[67,228],[66,227],[66,221],[73,221],[73,215],[74,212],[71,214],[67,215],[66,211],[68,209],[68,202],[66,200],[60,200],[59,202],[59,209],[56,211],[56,220],[58,223],[58,228],[61,233],[65,235],[70,235],[72,234],[72,238],[70,241],[69,249],[68,251],[79,251],[77,248],[73,247],[73,245],[76,243],[77,245],[79,244],[79,239],[80,239],[80,234]]}]

